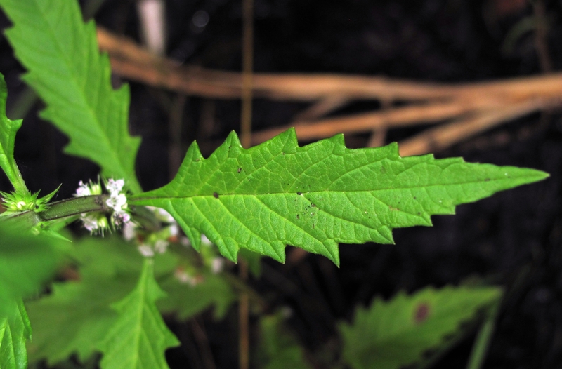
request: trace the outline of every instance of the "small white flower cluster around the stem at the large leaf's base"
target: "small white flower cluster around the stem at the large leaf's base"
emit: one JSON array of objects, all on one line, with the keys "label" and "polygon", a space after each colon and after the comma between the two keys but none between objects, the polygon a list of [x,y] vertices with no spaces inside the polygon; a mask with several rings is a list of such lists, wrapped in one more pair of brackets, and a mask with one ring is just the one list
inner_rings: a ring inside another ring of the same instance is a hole
[{"label": "small white flower cluster around the stem at the large leaf's base", "polygon": [[[84,183],[80,181],[79,187],[76,189],[74,196],[92,196],[100,195],[103,193],[101,184],[99,182]],[[81,214],[81,220],[84,228],[88,229],[91,233],[101,234],[103,236],[106,229],[110,227],[121,227],[123,224],[128,224],[131,221],[131,215],[127,213],[127,198],[122,192],[125,185],[124,180],[113,180],[110,178],[105,182],[105,189],[109,192],[109,199],[105,201],[113,211],[110,216],[110,222],[107,221],[107,215],[100,212],[84,213]]]}]

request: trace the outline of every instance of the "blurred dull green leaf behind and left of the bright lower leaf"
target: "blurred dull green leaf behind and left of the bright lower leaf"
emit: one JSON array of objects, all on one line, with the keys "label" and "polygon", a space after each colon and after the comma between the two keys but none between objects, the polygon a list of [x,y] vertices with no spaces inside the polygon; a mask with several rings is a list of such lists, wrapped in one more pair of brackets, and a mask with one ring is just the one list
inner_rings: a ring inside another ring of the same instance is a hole
[{"label": "blurred dull green leaf behind and left of the bright lower leaf", "polygon": [[[136,248],[115,237],[76,241],[72,257],[79,279],[53,283],[50,295],[27,303],[34,323],[32,362],[46,358],[54,365],[77,354],[84,363],[117,319],[110,305],[135,287],[143,263]],[[168,275],[176,260],[157,255],[156,263],[157,274]]]}]

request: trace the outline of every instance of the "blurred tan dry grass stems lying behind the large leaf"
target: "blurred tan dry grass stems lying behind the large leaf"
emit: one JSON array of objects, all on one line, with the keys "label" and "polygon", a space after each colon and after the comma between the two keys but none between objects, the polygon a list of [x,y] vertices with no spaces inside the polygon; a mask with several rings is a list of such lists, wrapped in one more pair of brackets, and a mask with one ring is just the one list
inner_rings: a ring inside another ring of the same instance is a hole
[{"label": "blurred tan dry grass stems lying behind the large leaf", "polygon": [[[100,48],[110,54],[113,71],[126,78],[187,95],[242,97],[240,73],[178,65],[100,28],[98,41]],[[443,149],[518,116],[561,106],[562,73],[455,85],[378,76],[256,73],[252,74],[251,90],[259,98],[313,102],[287,126],[253,133],[252,145],[292,126],[299,140],[318,140],[336,133],[374,132],[377,134],[369,145],[378,145],[379,133],[386,133],[389,128],[445,123],[405,141],[400,152],[412,155]],[[326,117],[353,100],[378,100],[386,108]],[[396,102],[402,106],[393,107]]]}]

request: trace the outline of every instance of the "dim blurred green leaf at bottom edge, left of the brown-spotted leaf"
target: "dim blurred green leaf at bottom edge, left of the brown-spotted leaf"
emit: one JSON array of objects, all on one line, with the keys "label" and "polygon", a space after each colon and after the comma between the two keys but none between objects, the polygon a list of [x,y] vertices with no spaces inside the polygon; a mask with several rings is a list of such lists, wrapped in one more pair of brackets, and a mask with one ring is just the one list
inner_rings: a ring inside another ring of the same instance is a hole
[{"label": "dim blurred green leaf at bottom edge, left of the brown-spotted leaf", "polygon": [[283,314],[264,316],[260,320],[259,368],[263,369],[309,369],[304,350],[294,335],[283,325]]}]

